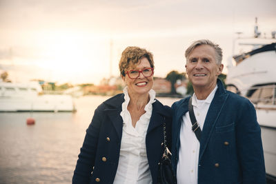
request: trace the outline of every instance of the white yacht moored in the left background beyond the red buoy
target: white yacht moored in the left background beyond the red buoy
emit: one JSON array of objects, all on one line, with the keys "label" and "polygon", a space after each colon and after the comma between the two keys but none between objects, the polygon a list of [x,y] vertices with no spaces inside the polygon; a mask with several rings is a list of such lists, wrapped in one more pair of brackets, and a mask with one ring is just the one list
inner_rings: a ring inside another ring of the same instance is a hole
[{"label": "white yacht moored in the left background beyond the red buoy", "polygon": [[75,112],[75,105],[70,95],[42,94],[36,82],[0,82],[0,112]]}]

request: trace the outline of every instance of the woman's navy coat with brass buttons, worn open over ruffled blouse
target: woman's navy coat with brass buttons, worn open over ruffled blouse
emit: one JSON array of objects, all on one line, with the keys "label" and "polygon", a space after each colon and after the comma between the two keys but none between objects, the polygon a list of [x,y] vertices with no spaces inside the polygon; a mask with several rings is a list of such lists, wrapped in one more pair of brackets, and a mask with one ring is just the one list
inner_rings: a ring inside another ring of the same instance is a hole
[{"label": "woman's navy coat with brass buttons, worn open over ruffled blouse", "polygon": [[[86,130],[72,183],[113,183],[121,147],[123,119],[120,113],[123,102],[124,94],[117,94],[95,110],[92,122]],[[157,100],[152,103],[152,116],[146,134],[146,152],[152,183],[157,183],[158,163],[164,152],[163,123],[166,122],[167,141],[170,143],[171,121],[171,110],[168,106]]]}]

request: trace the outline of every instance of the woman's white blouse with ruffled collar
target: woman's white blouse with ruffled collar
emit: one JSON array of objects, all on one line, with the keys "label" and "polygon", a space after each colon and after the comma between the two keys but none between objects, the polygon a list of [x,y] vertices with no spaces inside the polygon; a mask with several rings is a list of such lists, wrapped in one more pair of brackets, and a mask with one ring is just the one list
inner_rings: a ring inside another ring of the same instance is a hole
[{"label": "woman's white blouse with ruffled collar", "polygon": [[124,88],[125,101],[122,103],[121,117],[124,121],[121,136],[121,149],[119,163],[114,184],[150,184],[152,176],[146,154],[146,132],[152,114],[152,103],[155,102],[155,91],[150,90],[150,101],[135,127],[132,125],[130,112],[128,111],[128,88]]}]

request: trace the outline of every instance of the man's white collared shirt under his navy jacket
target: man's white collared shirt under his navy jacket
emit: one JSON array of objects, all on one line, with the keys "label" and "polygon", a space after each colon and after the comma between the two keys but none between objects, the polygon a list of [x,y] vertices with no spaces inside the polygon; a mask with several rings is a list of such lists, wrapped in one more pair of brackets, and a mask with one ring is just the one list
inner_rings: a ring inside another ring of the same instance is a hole
[{"label": "man's white collared shirt under his navy jacket", "polygon": [[[203,130],[206,114],[216,91],[217,85],[205,100],[197,99],[195,93],[192,96],[195,118],[197,119],[197,123],[199,123],[201,130]],[[195,136],[195,132],[192,130],[189,112],[186,112],[183,116],[179,140],[180,147],[179,160],[177,163],[177,183],[196,184],[200,144],[197,140],[197,136]]]}]

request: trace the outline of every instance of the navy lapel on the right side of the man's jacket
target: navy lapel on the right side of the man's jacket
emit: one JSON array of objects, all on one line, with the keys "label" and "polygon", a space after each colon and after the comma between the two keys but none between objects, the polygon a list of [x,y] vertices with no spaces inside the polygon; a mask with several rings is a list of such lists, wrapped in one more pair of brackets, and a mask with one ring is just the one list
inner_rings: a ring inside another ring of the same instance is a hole
[{"label": "navy lapel on the right side of the man's jacket", "polygon": [[210,134],[213,131],[215,124],[217,123],[217,119],[219,117],[219,114],[221,113],[222,108],[224,107],[227,97],[228,94],[220,94],[218,89],[213,101],[210,104],[210,108],[207,112],[204,122],[204,127],[201,132],[199,161],[201,159],[201,156],[204,154],[204,151],[206,150],[207,143],[210,139]]}]

